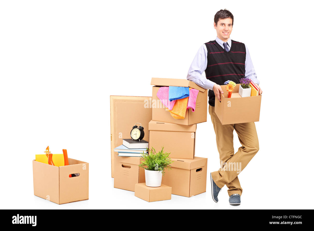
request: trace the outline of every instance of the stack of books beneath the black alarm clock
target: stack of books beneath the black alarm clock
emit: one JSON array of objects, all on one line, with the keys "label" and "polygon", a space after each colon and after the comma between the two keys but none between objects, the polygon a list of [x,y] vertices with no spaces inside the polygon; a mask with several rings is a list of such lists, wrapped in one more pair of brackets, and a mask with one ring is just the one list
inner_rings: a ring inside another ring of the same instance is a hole
[{"label": "stack of books beneath the black alarm clock", "polygon": [[122,145],[116,147],[114,151],[118,152],[120,157],[141,157],[147,153],[148,142],[145,140],[122,139]]}]

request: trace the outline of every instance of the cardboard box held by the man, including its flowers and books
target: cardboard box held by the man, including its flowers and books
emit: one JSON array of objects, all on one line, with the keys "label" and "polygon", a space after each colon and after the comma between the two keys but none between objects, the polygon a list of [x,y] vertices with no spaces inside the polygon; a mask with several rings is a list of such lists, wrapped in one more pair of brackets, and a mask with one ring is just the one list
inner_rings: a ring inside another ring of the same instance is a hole
[{"label": "cardboard box held by the man, including its flowers and books", "polygon": [[[241,80],[241,84],[228,80],[225,85],[221,85],[224,94],[220,94],[220,101],[215,97],[215,113],[221,124],[259,121],[262,95],[259,94],[258,87],[248,80]],[[250,94],[244,95],[243,90],[246,90],[244,87],[247,86],[250,88]]]}]

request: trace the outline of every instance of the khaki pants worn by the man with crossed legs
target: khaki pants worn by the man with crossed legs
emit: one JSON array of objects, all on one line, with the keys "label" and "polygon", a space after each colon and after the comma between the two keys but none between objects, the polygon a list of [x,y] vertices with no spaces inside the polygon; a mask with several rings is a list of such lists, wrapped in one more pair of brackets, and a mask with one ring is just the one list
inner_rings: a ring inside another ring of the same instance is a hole
[{"label": "khaki pants worn by the man with crossed legs", "polygon": [[[255,124],[251,122],[222,125],[215,113],[215,107],[208,106],[216,133],[217,149],[221,165],[218,171],[212,172],[213,180],[219,188],[227,185],[229,196],[235,193],[241,196],[242,188],[238,174],[259,150]],[[233,149],[233,130],[236,130],[242,145],[236,153],[234,153]]]}]

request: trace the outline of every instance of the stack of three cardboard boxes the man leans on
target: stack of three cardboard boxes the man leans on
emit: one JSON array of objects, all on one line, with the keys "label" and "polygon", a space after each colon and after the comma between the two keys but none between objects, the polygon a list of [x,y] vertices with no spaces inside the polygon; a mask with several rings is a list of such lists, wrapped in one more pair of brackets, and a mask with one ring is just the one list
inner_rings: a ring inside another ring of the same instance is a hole
[{"label": "stack of three cardboard boxes the man leans on", "polygon": [[[171,169],[165,170],[162,184],[172,187],[172,194],[191,197],[206,191],[207,158],[195,157],[198,123],[207,121],[207,90],[189,80],[152,78],[152,120],[149,122],[149,148],[170,152]],[[186,111],[184,119],[175,119],[159,103],[162,86],[192,87],[199,90],[195,111]]]}]

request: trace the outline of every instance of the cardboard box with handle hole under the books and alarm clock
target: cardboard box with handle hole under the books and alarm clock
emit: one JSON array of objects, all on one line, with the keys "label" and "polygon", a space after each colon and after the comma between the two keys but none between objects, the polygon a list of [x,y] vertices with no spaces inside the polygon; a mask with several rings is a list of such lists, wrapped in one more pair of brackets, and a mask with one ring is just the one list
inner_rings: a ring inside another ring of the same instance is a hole
[{"label": "cardboard box with handle hole under the books and alarm clock", "polygon": [[139,167],[142,157],[119,157],[115,154],[114,188],[134,192],[136,183],[145,182],[145,169]]}]

